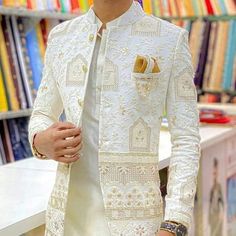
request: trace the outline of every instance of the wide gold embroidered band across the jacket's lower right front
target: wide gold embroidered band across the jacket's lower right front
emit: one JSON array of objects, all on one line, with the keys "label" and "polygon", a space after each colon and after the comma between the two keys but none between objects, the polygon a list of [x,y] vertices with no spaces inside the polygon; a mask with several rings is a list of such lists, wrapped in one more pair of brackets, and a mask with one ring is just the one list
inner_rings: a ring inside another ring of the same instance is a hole
[{"label": "wide gold embroidered band across the jacket's lower right front", "polygon": [[156,163],[100,162],[99,171],[109,220],[143,220],[162,215]]}]

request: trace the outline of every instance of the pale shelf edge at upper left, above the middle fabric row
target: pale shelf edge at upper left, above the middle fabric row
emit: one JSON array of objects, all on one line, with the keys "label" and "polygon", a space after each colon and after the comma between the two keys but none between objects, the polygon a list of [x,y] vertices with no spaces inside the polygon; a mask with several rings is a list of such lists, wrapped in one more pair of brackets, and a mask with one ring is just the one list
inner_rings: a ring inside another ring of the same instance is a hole
[{"label": "pale shelf edge at upper left, above the middle fabric row", "polygon": [[72,13],[61,13],[53,11],[37,11],[28,10],[26,8],[14,8],[14,7],[4,7],[0,6],[0,15],[15,15],[15,16],[25,16],[25,17],[35,17],[35,18],[52,18],[60,20],[69,20],[83,14],[82,12],[77,14]]}]

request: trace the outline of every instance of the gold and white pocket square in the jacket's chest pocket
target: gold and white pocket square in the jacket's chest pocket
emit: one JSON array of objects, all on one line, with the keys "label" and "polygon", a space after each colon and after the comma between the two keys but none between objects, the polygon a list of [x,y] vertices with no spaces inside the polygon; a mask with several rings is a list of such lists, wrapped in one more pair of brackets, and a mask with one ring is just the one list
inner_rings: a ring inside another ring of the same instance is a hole
[{"label": "gold and white pocket square in the jacket's chest pocket", "polygon": [[160,68],[157,64],[157,60],[154,57],[137,55],[133,72],[158,73],[160,72]]}]

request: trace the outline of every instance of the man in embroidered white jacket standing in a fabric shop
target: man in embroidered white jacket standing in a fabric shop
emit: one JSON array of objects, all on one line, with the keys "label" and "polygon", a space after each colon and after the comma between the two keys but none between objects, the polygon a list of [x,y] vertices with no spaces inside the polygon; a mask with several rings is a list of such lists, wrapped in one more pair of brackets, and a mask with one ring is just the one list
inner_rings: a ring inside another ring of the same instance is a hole
[{"label": "man in embroidered white jacket standing in a fabric shop", "polygon": [[[45,235],[186,235],[200,156],[193,77],[187,31],[132,0],[95,0],[52,29],[29,123],[34,155],[58,161]],[[63,109],[67,122],[58,122]],[[172,137],[165,214],[164,109]]]}]

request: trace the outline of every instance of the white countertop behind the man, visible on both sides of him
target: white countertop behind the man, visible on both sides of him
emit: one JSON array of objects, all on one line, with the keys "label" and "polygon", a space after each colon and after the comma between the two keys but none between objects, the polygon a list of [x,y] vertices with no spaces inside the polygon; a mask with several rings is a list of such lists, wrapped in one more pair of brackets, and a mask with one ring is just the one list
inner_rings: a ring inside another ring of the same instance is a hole
[{"label": "white countertop behind the man, visible on both sides of him", "polygon": [[[236,135],[236,128],[200,128],[202,149]],[[161,131],[160,169],[169,165],[170,134]],[[0,235],[16,236],[43,225],[47,201],[55,180],[56,162],[29,158],[0,166]]]}]

